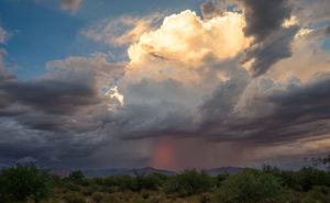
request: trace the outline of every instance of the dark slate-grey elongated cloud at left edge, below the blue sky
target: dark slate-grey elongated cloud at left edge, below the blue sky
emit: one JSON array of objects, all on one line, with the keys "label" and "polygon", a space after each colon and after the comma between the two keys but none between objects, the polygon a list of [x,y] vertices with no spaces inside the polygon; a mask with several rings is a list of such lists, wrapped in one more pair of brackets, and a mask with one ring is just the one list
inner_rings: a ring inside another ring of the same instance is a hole
[{"label": "dark slate-grey elongated cloud at left edge, below the blue sky", "polygon": [[12,101],[47,113],[70,114],[79,106],[99,102],[98,93],[87,81],[11,81],[0,88]]}]

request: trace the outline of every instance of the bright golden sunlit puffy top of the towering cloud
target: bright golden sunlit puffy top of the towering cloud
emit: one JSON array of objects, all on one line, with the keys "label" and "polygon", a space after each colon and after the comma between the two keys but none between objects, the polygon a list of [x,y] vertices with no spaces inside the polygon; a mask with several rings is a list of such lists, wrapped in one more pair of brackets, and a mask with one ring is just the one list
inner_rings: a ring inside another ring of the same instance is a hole
[{"label": "bright golden sunlit puffy top of the towering cloud", "polygon": [[235,57],[250,43],[242,32],[244,24],[239,13],[227,12],[202,21],[187,10],[165,18],[158,30],[141,35],[139,42],[129,47],[129,57],[131,64],[152,56],[193,65],[207,55],[220,60]]}]

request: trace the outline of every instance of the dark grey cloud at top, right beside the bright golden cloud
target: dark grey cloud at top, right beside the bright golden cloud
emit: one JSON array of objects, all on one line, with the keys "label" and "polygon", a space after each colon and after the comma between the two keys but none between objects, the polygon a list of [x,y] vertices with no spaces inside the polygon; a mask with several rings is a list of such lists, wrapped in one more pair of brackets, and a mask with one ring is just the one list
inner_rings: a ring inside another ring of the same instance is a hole
[{"label": "dark grey cloud at top, right beside the bright golden cloud", "polygon": [[254,42],[246,49],[243,61],[255,59],[252,65],[254,77],[265,74],[275,63],[292,56],[290,43],[299,27],[283,27],[290,18],[292,7],[287,0],[240,0],[244,7],[246,36]]}]

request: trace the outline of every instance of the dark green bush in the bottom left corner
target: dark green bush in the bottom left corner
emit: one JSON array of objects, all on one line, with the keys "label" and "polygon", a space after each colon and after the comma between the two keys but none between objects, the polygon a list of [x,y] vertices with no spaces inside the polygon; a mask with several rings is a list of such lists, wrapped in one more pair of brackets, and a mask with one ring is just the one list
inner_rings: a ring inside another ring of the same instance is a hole
[{"label": "dark green bush in the bottom left corner", "polygon": [[3,168],[0,173],[0,196],[20,201],[32,196],[35,202],[40,202],[48,194],[51,180],[47,170],[38,169],[33,163],[18,163],[12,168]]}]

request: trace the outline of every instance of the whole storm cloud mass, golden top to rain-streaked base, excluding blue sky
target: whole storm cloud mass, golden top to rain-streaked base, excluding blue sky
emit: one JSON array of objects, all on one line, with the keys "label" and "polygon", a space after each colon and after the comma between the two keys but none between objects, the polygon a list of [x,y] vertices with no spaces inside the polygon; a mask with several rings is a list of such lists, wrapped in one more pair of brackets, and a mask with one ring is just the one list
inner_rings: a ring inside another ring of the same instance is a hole
[{"label": "whole storm cloud mass, golden top to rain-streaked base, excluding blue sky", "polygon": [[[1,57],[0,160],[218,167],[327,139],[324,27],[300,29],[301,16],[290,21],[295,9],[286,1],[239,3],[242,12],[201,19],[187,10],[162,22],[158,14],[123,16],[81,31],[109,49],[128,47],[128,61],[110,63],[103,53],[70,56],[20,80]],[[261,5],[274,8],[273,16]]]}]

